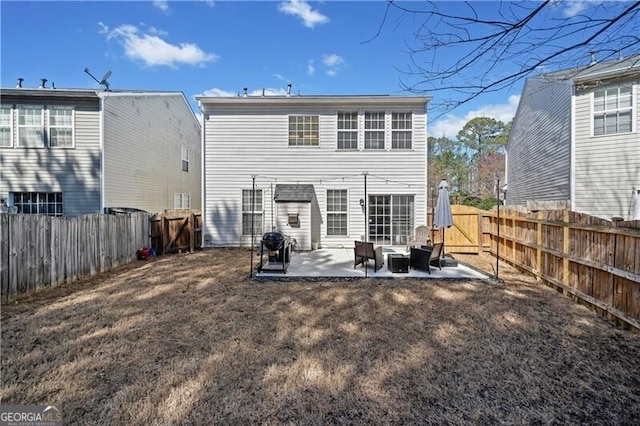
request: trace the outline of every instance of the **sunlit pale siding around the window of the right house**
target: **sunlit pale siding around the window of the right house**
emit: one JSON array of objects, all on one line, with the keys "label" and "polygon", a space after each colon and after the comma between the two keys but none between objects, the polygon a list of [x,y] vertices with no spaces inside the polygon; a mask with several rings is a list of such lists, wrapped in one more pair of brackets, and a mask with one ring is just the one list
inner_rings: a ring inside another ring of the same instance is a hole
[{"label": "sunlit pale siding around the window of the right house", "polygon": [[635,131],[592,136],[593,90],[575,98],[573,210],[605,219],[628,219],[632,189],[640,187],[640,90],[633,89]]}]

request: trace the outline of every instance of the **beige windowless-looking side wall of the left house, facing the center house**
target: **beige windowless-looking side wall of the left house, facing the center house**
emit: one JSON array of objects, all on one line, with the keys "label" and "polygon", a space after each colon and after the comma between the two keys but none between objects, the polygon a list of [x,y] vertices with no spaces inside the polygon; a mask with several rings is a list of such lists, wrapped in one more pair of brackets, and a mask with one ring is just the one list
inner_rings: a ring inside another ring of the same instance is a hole
[{"label": "beige windowless-looking side wall of the left house, facing the center house", "polygon": [[[180,94],[104,97],[105,207],[174,208],[174,194],[201,208],[201,130]],[[181,147],[189,150],[182,171]]]}]

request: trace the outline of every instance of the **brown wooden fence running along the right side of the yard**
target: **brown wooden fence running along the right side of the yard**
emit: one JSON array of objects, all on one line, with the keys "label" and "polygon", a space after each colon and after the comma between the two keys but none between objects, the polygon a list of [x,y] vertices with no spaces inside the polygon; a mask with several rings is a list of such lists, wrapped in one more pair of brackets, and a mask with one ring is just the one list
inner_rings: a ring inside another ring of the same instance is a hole
[{"label": "brown wooden fence running along the right side of the yard", "polygon": [[499,220],[497,213],[482,213],[494,256],[640,329],[640,221],[569,210],[502,207]]}]

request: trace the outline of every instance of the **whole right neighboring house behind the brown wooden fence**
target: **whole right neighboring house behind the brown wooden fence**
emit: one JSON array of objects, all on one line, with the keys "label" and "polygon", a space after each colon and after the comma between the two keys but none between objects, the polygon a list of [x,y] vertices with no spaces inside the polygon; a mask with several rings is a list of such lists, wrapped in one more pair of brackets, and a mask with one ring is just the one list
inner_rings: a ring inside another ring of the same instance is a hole
[{"label": "whole right neighboring house behind the brown wooden fence", "polygon": [[639,104],[640,55],[527,79],[506,148],[506,204],[564,202],[628,219],[640,188]]}]

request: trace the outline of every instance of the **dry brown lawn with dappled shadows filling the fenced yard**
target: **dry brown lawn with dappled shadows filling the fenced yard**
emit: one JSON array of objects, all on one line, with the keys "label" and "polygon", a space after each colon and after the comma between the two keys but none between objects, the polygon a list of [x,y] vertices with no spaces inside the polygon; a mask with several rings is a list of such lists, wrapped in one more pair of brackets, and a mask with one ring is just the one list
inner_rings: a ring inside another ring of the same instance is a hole
[{"label": "dry brown lawn with dappled shadows filling the fenced yard", "polygon": [[248,265],[165,256],[3,306],[2,404],[65,424],[638,424],[640,335],[506,264],[504,282]]}]

